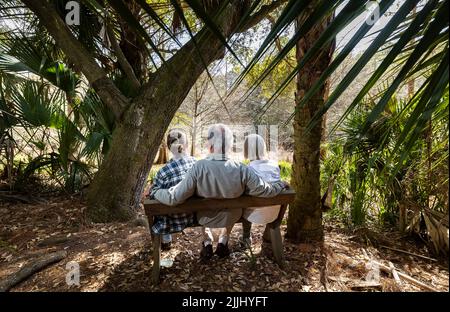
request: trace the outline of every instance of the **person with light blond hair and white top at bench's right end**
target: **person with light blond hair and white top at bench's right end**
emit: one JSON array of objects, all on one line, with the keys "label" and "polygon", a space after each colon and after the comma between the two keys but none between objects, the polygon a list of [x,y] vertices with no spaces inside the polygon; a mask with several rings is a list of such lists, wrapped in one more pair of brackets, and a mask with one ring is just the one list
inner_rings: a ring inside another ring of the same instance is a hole
[{"label": "person with light blond hair and white top at bench's right end", "polygon": [[[244,157],[250,160],[248,167],[252,169],[265,182],[280,182],[280,167],[276,161],[267,157],[266,143],[262,136],[250,134],[244,141]],[[243,223],[241,243],[251,245],[251,226],[255,224],[267,224],[275,221],[280,212],[280,206],[267,206],[259,208],[246,208],[242,217],[247,222]]]}]

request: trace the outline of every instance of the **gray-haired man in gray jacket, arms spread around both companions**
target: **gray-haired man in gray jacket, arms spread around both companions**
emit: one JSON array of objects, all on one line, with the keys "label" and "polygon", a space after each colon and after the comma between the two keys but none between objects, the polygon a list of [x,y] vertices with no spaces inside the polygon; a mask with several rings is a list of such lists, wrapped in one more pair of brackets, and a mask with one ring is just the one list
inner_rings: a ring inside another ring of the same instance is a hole
[{"label": "gray-haired man in gray jacket, arms spread around both companions", "polygon": [[[232,145],[231,129],[223,124],[212,125],[208,129],[209,155],[197,161],[180,183],[169,189],[158,190],[153,195],[155,199],[165,205],[175,206],[194,194],[204,198],[237,198],[244,193],[258,197],[274,197],[286,187],[286,184],[281,181],[265,182],[244,164],[231,160],[229,154]],[[203,260],[213,256],[214,237],[210,228],[222,228],[216,254],[221,258],[230,254],[229,234],[241,216],[240,208],[197,213],[197,221],[203,226],[203,243],[200,253]]]}]

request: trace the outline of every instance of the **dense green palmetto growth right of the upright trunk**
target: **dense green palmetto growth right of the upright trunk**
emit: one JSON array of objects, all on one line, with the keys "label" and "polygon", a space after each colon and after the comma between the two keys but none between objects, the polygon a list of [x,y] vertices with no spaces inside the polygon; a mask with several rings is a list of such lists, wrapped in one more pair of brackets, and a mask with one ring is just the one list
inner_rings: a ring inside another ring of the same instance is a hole
[{"label": "dense green palmetto growth right of the upright trunk", "polygon": [[[445,101],[448,96],[443,98]],[[417,105],[418,101],[413,103]],[[444,134],[448,132],[448,115],[434,117],[430,151],[425,148],[430,138],[421,136],[404,156],[392,150],[415,106],[408,107],[407,100],[391,100],[361,135],[361,127],[374,105],[359,105],[330,143],[322,170],[325,178],[337,176],[334,208],[347,211],[351,226],[364,225],[369,220],[399,225],[402,231],[422,235],[432,243],[435,252],[448,252],[448,198],[442,189],[448,183],[448,137]],[[405,165],[398,169],[401,160]]]}]

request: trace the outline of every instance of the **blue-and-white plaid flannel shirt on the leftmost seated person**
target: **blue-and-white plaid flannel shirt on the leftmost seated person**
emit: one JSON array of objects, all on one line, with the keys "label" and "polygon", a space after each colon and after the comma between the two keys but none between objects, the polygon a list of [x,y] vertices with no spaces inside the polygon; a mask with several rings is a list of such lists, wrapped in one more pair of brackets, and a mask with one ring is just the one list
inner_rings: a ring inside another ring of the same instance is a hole
[{"label": "blue-and-white plaid flannel shirt on the leftmost seated person", "polygon": [[[149,197],[154,199],[157,190],[168,189],[177,185],[195,164],[196,159],[191,156],[180,159],[171,159],[156,174]],[[155,216],[152,231],[156,234],[170,234],[180,232],[194,224],[194,214],[177,213],[164,216]]]}]

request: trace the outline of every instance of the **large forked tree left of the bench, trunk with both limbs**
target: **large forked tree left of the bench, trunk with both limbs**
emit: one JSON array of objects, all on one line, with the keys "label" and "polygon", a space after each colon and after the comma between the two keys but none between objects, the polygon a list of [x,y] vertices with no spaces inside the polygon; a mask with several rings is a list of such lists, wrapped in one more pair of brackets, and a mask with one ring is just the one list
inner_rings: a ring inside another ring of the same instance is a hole
[{"label": "large forked tree left of the bench, trunk with both limbs", "polygon": [[[208,1],[204,5],[210,16],[217,17],[215,21],[221,26],[224,36],[230,37],[259,23],[286,1],[278,0],[261,6],[243,24],[239,22],[251,0]],[[111,148],[89,188],[87,214],[97,222],[128,220],[135,214],[144,182],[172,117],[203,72],[203,64],[209,65],[223,57],[223,44],[208,28],[203,28],[195,40],[191,39],[154,74],[149,74],[148,82],[140,87],[137,94],[133,92],[133,99],[129,99],[75,38],[52,3],[45,0],[22,2],[37,15],[56,44],[86,76],[117,119]],[[110,2],[113,7],[117,3]],[[227,5],[224,6],[225,3]],[[126,1],[126,4],[131,6],[129,8],[134,14],[140,11],[134,1]],[[120,7],[114,9],[120,10]],[[133,43],[133,33],[127,32],[126,25],[121,26],[122,34],[128,33],[130,43]],[[127,62],[137,77],[146,77],[147,68],[140,70],[140,65],[146,64],[143,55],[132,55],[132,47],[124,46],[123,40],[120,46]],[[140,52],[140,47],[136,47]]]}]

